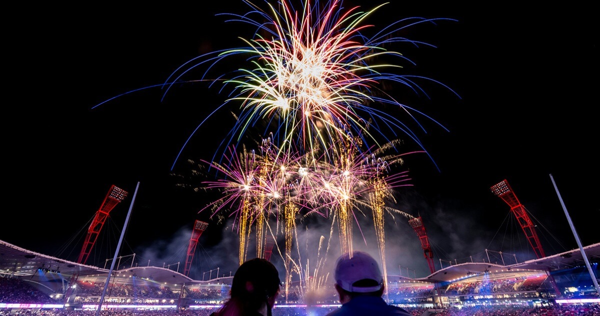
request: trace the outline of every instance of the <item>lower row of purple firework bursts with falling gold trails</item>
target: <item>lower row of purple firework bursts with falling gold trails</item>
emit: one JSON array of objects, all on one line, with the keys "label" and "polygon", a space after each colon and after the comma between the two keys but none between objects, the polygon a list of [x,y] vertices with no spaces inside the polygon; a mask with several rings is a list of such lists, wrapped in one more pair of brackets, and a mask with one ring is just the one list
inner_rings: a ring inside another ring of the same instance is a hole
[{"label": "lower row of purple firework bursts with falling gold trails", "polygon": [[[263,227],[269,218],[278,222],[280,219],[285,239],[282,257],[286,263],[286,279],[289,279],[293,268],[289,260],[299,216],[331,218],[332,226],[337,225],[341,250],[351,251],[353,225],[358,226],[355,212],[364,214],[369,208],[373,210],[379,247],[385,256],[383,212],[389,208],[385,207],[384,199],[393,199],[389,193],[392,189],[410,185],[407,184],[410,180],[407,171],[386,173],[391,163],[401,165],[404,154],[386,154],[386,150],[397,148],[398,144],[364,151],[348,144],[349,141],[343,140],[336,145],[338,154],[333,163],[313,162],[310,157],[316,154],[299,156],[298,151],[293,151],[295,156],[282,154],[270,139],[263,140],[258,151],[248,151],[244,147],[244,151],[238,153],[235,147],[230,147],[226,165],[212,163],[222,178],[204,181],[204,184],[208,189],[221,190],[222,196],[206,208],[211,208],[212,216],[229,209],[229,216],[236,217],[241,262],[248,252],[251,227],[257,236],[257,256],[263,256],[263,250],[259,248],[264,239]],[[377,196],[377,203],[373,202],[372,196]],[[370,203],[368,199],[371,199]],[[360,226],[358,229],[362,233]],[[277,231],[275,229],[275,234]]]}]

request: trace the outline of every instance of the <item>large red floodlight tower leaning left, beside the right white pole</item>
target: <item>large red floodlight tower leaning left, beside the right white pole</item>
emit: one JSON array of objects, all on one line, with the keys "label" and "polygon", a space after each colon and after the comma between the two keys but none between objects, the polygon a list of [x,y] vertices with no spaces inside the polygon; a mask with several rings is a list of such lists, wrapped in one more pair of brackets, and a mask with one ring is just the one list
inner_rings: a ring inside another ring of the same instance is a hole
[{"label": "large red floodlight tower leaning left, beside the right white pole", "polygon": [[491,192],[499,198],[503,199],[506,204],[511,206],[512,214],[517,217],[525,236],[527,237],[527,241],[533,248],[535,255],[538,259],[545,257],[544,249],[542,249],[542,245],[539,242],[538,234],[535,232],[534,225],[527,215],[527,211],[521,202],[517,199],[515,193],[512,192],[511,186],[509,186],[508,181],[503,180],[502,182],[492,186]]}]

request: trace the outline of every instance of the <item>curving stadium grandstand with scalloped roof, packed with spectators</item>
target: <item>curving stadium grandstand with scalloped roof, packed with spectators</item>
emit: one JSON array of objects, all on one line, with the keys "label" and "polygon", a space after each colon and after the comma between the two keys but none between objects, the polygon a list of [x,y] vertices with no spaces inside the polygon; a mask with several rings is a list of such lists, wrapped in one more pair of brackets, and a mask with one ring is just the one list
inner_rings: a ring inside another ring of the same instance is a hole
[{"label": "curving stadium grandstand with scalloped roof, packed with spectators", "polygon": [[[584,247],[584,254],[598,278],[600,244]],[[513,309],[600,315],[600,298],[585,262],[575,249],[512,265],[449,265],[425,278],[388,275],[385,299],[413,315],[473,315],[481,306],[489,311],[485,315],[506,315]],[[103,315],[111,310],[208,315],[227,298],[231,281],[231,276],[218,274],[194,280],[172,267],[132,265],[111,272],[0,241],[0,315],[25,309],[28,315],[94,315],[98,306]],[[313,298],[290,289],[280,296],[274,315],[324,315],[339,306],[333,288],[323,288]],[[52,314],[56,311],[62,314]]]}]

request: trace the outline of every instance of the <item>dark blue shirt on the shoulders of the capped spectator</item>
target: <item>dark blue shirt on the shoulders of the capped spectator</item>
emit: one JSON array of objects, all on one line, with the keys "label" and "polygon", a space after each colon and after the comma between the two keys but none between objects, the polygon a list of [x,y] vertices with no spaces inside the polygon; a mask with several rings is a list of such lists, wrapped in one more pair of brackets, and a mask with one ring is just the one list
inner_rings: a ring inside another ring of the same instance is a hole
[{"label": "dark blue shirt on the shoulders of the capped spectator", "polygon": [[405,309],[394,305],[388,305],[388,303],[379,296],[356,296],[353,297],[350,302],[341,305],[340,308],[335,311],[329,312],[325,316],[365,316],[365,315],[377,315],[377,316],[412,316]]}]

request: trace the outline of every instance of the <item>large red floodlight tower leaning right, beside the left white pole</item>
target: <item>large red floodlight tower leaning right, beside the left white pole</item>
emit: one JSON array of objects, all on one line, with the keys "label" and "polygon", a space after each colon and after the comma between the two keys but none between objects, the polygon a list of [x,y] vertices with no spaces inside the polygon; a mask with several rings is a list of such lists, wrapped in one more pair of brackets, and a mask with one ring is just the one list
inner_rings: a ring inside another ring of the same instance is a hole
[{"label": "large red floodlight tower leaning right, beside the left white pole", "polygon": [[116,187],[114,184],[110,187],[109,193],[106,194],[104,202],[102,202],[100,209],[96,212],[92,224],[88,228],[88,235],[83,243],[77,263],[85,265],[86,261],[88,261],[89,253],[92,251],[92,248],[94,248],[98,233],[100,233],[102,226],[104,226],[106,218],[109,217],[109,212],[112,211],[119,202],[124,200],[125,197],[127,197],[127,192],[125,190],[119,189],[119,187]]}]

